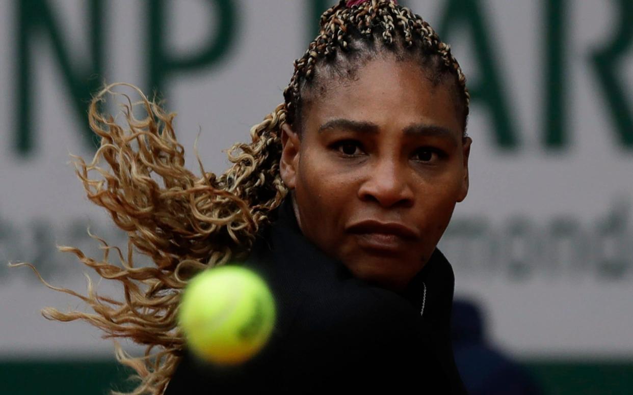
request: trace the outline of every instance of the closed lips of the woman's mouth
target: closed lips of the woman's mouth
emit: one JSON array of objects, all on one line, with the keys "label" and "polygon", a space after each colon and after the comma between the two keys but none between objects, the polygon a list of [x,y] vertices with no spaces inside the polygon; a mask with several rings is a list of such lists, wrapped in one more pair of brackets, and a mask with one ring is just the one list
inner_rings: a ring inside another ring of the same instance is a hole
[{"label": "closed lips of the woman's mouth", "polygon": [[361,247],[378,252],[392,253],[411,248],[411,243],[419,238],[417,231],[398,222],[361,221],[347,230],[356,235]]}]

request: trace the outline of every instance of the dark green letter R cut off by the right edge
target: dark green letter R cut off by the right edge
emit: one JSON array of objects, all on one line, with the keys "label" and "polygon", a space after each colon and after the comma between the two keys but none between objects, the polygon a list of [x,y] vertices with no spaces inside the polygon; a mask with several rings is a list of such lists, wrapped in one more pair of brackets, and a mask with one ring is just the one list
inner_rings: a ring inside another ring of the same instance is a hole
[{"label": "dark green letter R cut off by the right edge", "polygon": [[616,72],[633,39],[633,3],[618,0],[620,26],[615,37],[604,48],[591,54],[591,63],[611,110],[611,120],[625,149],[633,149],[633,116],[627,101],[622,78]]}]

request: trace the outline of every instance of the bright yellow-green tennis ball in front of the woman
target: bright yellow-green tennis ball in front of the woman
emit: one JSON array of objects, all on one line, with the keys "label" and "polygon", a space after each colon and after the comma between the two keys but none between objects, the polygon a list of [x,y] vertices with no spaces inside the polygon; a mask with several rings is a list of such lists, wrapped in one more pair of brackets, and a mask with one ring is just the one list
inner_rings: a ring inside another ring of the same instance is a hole
[{"label": "bright yellow-green tennis ball in front of the woman", "polygon": [[268,341],[275,301],[253,271],[226,265],[191,279],[182,294],[178,320],[194,355],[218,365],[237,365]]}]

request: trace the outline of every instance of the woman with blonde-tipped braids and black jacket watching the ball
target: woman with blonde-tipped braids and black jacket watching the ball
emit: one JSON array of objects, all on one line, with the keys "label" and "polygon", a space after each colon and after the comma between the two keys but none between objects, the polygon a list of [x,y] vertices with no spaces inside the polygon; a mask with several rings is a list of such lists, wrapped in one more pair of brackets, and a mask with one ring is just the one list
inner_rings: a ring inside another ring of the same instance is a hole
[{"label": "woman with blonde-tipped braids and black jacket watching the ball", "polygon": [[[149,116],[134,119],[130,103],[127,129],[101,116],[107,92],[89,111],[101,148],[90,165],[78,159],[78,175],[128,232],[128,255],[115,248],[120,267],[108,262],[113,247],[100,262],[64,249],[121,281],[125,301],[89,289],[80,297],[96,314],[44,314],[147,344],[145,358],[118,351],[141,379],[135,394],[464,392],[449,343],[453,272],[436,245],[468,191],[469,96],[420,16],[392,0],[325,11],[285,101],[253,126],[250,144],[233,147],[219,177],[183,167],[173,114],[144,96]],[[109,170],[96,166],[101,157]],[[105,183],[89,178],[94,169]],[[156,267],[134,267],[132,246]],[[233,369],[197,362],[175,322],[187,279],[229,261],[260,272],[279,309],[265,349]]]}]

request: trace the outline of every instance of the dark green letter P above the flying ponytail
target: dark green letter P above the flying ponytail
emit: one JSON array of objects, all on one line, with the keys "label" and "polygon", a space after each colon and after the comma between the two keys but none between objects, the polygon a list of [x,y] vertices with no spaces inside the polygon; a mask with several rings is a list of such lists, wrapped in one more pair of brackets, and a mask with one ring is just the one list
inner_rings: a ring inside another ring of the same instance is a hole
[{"label": "dark green letter P above the flying ponytail", "polygon": [[[163,94],[165,79],[176,71],[193,71],[209,66],[224,56],[234,39],[235,4],[232,0],[208,0],[209,9],[218,11],[216,18],[210,13],[210,19],[218,21],[215,35],[206,40],[199,53],[187,54],[176,58],[168,54],[165,47],[165,28],[168,18],[165,18],[165,1],[151,0],[147,2],[149,12],[149,87]],[[211,23],[211,22],[210,22]]]}]

